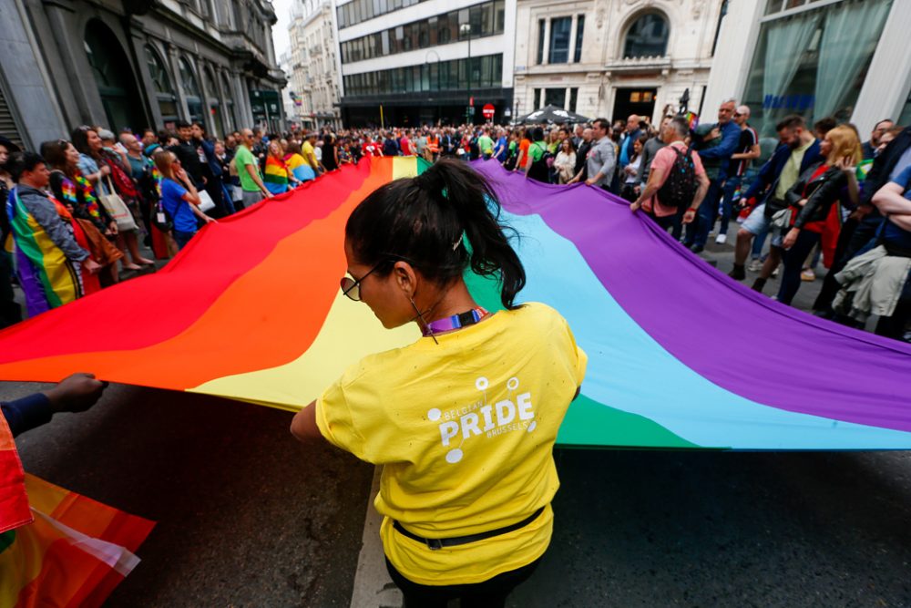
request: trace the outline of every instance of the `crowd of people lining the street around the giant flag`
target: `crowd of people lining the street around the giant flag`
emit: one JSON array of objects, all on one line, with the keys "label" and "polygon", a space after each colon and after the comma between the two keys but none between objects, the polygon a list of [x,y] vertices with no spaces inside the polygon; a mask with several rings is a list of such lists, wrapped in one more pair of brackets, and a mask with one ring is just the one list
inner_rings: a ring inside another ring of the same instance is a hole
[{"label": "crowd of people lining the street around the giant flag", "polygon": [[[877,314],[877,333],[903,337],[911,286],[896,276],[911,261],[911,213],[903,212],[911,211],[903,203],[911,132],[883,120],[862,143],[853,125],[822,119],[811,127],[793,115],[776,125],[776,145],[763,155],[749,119],[750,108],[726,99],[717,119],[698,125],[691,115],[656,125],[634,115],[549,127],[241,129],[214,139],[200,123],[181,122],[141,135],[80,127],[39,154],[0,139],[3,238],[16,252],[31,315],[154,264],[140,242],[168,258],[205,223],[364,156],[482,159],[527,179],[610,191],[697,253],[712,233],[726,242],[730,222],[742,222],[732,278],[758,273],[752,288],[762,292],[781,273],[774,297],[791,304],[822,259],[829,272],[817,314],[857,326]],[[59,253],[46,255],[41,243]],[[0,263],[14,276],[8,255]],[[897,285],[885,296],[883,276]],[[3,325],[21,318],[7,283]]]}]

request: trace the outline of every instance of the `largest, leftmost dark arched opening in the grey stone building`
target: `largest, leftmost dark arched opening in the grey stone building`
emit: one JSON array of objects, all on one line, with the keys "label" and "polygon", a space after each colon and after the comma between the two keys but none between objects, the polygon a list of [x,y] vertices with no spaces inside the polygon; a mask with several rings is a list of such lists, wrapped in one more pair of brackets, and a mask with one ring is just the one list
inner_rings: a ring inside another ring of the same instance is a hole
[{"label": "largest, leftmost dark arched opening in the grey stone building", "polygon": [[102,22],[92,19],[86,26],[84,44],[105,110],[105,126],[115,133],[126,128],[143,129],[148,119],[142,110],[133,68],[117,36]]}]

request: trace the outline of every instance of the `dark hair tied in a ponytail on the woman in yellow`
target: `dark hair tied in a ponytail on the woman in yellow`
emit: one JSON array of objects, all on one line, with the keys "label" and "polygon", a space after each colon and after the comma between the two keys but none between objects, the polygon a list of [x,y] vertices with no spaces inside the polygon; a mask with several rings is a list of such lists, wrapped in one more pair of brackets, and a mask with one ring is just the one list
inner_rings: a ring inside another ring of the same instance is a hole
[{"label": "dark hair tied in a ponytail on the woman in yellow", "polygon": [[[512,309],[525,269],[499,222],[487,181],[459,160],[443,159],[416,178],[395,180],[370,194],[348,218],[345,237],[357,261],[405,260],[428,280],[451,283],[469,266],[497,276],[500,300]],[[391,269],[376,272],[388,273]]]}]

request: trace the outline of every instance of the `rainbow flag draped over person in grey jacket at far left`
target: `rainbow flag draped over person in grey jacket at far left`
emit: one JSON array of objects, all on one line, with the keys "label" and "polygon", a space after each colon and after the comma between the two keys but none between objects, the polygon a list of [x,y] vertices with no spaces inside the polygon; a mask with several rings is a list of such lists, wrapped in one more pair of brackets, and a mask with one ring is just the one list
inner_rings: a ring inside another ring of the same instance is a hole
[{"label": "rainbow flag draped over person in grey jacket at far left", "polygon": [[[77,228],[78,224],[72,222],[69,211],[54,199],[50,200],[55,203],[62,219],[73,227],[74,234],[82,235],[84,240],[85,235],[82,234],[81,228]],[[19,198],[18,187],[9,193],[6,212],[13,228],[16,270],[26,292],[29,316],[35,316],[82,297],[82,273],[76,264],[67,259],[66,254],[55,242],[51,241],[44,227],[26,210],[26,206]],[[79,244],[87,249],[87,243]]]}]

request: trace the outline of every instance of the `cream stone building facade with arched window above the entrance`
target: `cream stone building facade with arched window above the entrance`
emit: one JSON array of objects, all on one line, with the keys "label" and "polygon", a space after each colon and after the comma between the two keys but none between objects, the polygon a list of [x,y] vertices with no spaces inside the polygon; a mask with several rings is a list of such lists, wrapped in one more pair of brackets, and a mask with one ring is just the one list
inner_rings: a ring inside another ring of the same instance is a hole
[{"label": "cream stone building facade with arched window above the entrance", "polygon": [[727,0],[517,0],[516,116],[699,111]]}]

